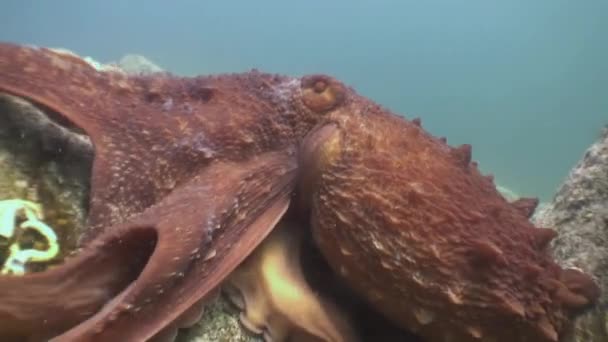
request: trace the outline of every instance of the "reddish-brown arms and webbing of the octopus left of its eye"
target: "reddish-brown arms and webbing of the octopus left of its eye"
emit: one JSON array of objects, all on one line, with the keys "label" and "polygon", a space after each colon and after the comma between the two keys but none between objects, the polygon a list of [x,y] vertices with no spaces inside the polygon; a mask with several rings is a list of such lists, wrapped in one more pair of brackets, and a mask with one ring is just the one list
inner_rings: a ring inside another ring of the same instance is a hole
[{"label": "reddish-brown arms and webbing of the octopus left of its eye", "polygon": [[319,117],[286,108],[291,88],[299,81],[257,72],[99,73],[0,45],[0,91],[59,113],[95,149],[83,248],[0,280],[2,340],[145,340],[205,297],[287,209],[297,140]]}]

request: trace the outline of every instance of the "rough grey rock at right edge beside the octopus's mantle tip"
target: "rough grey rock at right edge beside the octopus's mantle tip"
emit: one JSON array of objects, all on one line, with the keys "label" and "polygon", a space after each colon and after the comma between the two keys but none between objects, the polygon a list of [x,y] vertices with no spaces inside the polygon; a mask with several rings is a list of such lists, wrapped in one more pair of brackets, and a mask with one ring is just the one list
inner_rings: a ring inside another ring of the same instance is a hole
[{"label": "rough grey rock at right edge beside the octopus's mantle tip", "polygon": [[552,244],[557,261],[593,274],[602,289],[598,305],[576,319],[574,334],[565,341],[607,341],[608,126],[570,171],[553,201],[540,208],[533,220],[557,230]]}]

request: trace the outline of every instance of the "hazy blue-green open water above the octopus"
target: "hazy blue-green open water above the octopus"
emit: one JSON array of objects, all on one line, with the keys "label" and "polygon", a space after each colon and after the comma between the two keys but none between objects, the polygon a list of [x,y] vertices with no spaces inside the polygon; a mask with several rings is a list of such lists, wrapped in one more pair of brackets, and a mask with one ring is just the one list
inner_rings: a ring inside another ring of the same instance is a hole
[{"label": "hazy blue-green open water above the octopus", "polygon": [[608,118],[608,2],[3,0],[0,40],[180,75],[328,73],[547,201]]}]

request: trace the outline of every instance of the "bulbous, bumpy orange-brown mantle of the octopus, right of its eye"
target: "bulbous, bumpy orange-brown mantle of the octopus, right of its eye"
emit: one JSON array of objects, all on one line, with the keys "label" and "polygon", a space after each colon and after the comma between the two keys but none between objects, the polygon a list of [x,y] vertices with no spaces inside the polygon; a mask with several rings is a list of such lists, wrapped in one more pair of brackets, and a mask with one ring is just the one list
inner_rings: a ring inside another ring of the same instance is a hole
[{"label": "bulbous, bumpy orange-brown mantle of the octopus, right of its eye", "polygon": [[557,341],[598,288],[552,260],[553,231],[528,220],[536,201],[508,203],[470,146],[341,89],[302,157],[314,236],[334,270],[429,341]]}]

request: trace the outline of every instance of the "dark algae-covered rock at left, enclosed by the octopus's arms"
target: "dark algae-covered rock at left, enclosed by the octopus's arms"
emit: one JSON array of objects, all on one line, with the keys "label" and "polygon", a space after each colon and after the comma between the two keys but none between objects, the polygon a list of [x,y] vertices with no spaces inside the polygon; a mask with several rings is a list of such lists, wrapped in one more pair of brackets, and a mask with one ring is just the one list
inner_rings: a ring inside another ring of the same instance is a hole
[{"label": "dark algae-covered rock at left, enclosed by the octopus's arms", "polygon": [[[59,239],[59,255],[50,263],[28,265],[29,271],[60,262],[75,248],[86,222],[91,161],[92,146],[85,136],[22,99],[0,94],[0,201],[40,205],[44,222]],[[7,246],[0,246],[0,262],[6,257]]]}]

